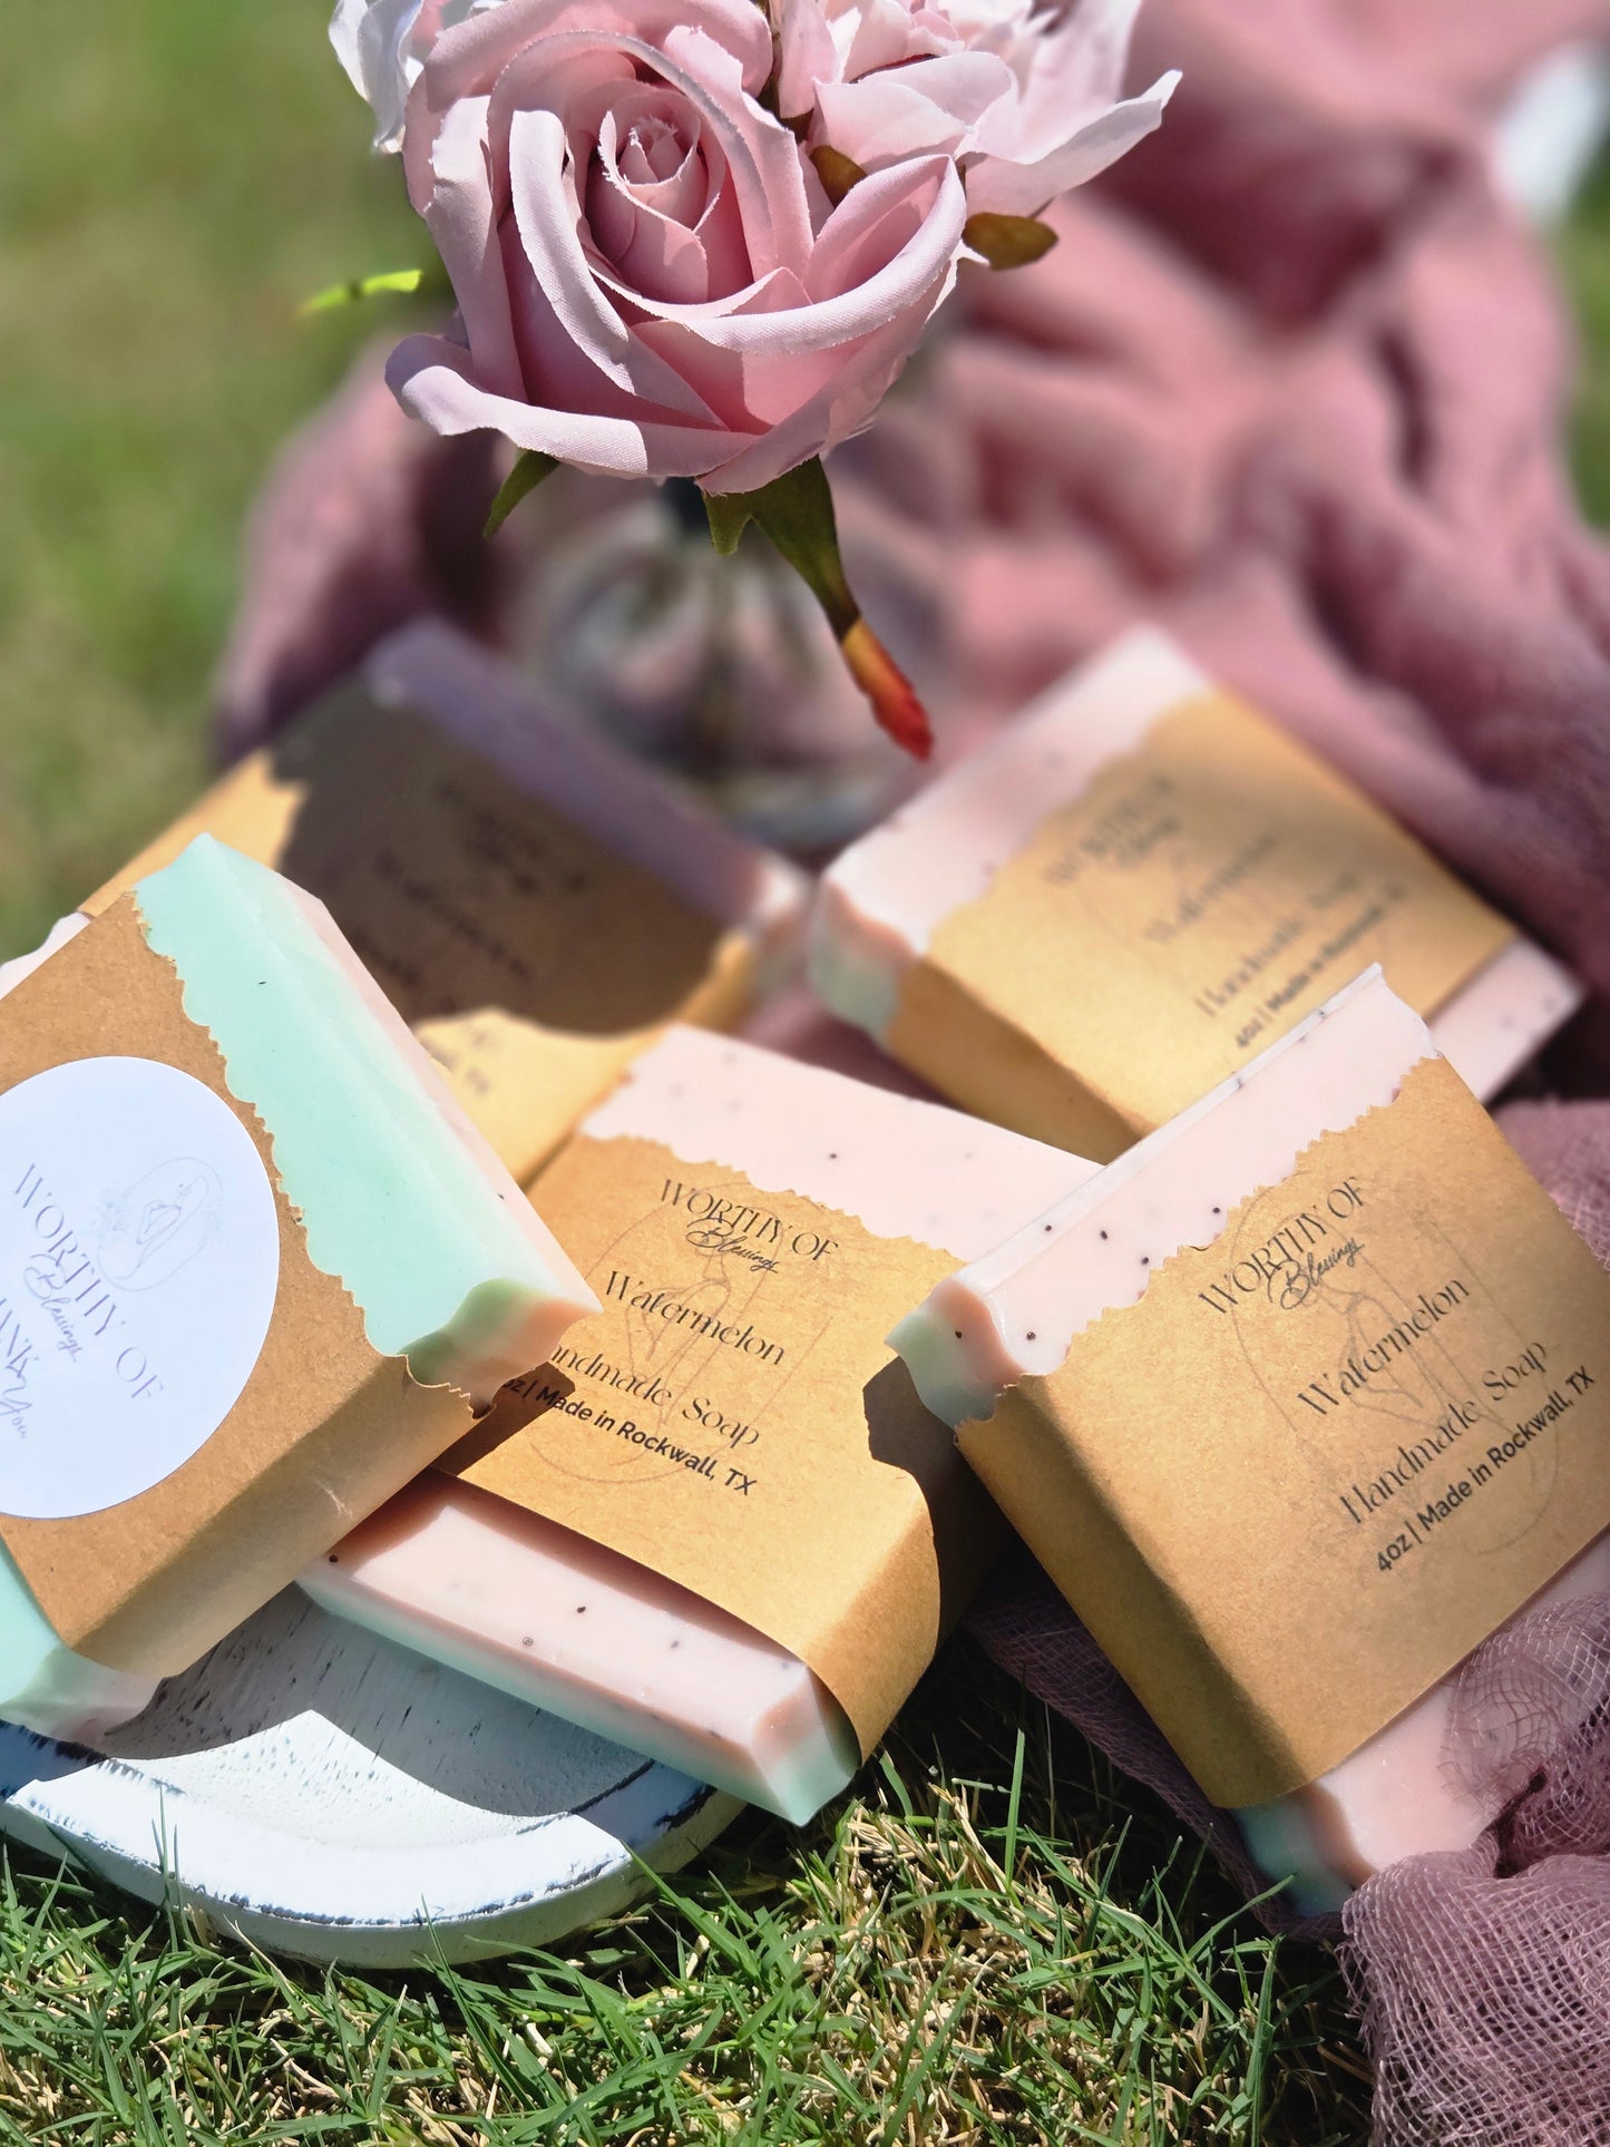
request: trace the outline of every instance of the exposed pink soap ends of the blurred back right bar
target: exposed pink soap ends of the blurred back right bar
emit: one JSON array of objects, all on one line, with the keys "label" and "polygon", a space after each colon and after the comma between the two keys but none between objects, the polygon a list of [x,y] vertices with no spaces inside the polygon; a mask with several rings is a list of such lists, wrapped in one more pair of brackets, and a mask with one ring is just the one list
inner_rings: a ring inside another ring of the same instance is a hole
[{"label": "exposed pink soap ends of the blurred back right bar", "polygon": [[[852,844],[822,876],[811,917],[822,1001],[887,1041],[906,973],[940,923],[987,893],[1045,818],[1136,751],[1159,717],[1211,691],[1168,636],[1136,629]],[[1576,977],[1518,938],[1436,1009],[1432,1035],[1466,1086],[1492,1097],[1580,1005]]]}]

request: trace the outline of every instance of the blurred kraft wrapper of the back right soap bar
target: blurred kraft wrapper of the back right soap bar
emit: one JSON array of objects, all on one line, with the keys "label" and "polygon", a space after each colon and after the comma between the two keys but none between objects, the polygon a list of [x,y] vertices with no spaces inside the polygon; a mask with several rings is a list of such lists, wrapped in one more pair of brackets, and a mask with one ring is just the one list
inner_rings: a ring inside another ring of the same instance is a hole
[{"label": "blurred kraft wrapper of the back right soap bar", "polygon": [[1213,693],[942,919],[889,1048],[979,1116],[1110,1162],[1372,962],[1430,1018],[1511,938],[1344,777]]}]

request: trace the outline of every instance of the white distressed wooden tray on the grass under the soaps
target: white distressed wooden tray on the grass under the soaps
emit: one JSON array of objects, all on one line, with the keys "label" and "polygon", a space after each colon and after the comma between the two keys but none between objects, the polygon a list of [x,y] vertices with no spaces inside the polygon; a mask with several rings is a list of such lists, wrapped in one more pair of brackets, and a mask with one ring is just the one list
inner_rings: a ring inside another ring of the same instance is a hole
[{"label": "white distressed wooden tray on the grass under the soaps", "polygon": [[105,1756],[0,1722],[0,1829],[273,1952],[393,1969],[547,1945],[741,1810],[288,1589]]}]

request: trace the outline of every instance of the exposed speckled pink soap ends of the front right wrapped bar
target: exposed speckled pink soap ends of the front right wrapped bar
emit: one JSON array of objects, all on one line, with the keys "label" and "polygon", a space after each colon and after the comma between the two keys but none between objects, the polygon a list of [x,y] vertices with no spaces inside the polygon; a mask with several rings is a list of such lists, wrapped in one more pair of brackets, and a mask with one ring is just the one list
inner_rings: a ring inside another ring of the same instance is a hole
[{"label": "exposed speckled pink soap ends of the front right wrapped bar", "polygon": [[[1163,1260],[1211,1245],[1241,1200],[1290,1177],[1320,1134],[1389,1104],[1428,1056],[1436,1048],[1425,1024],[1380,970],[1357,979],[1241,1076],[942,1282],[891,1338],[927,1406],[957,1426],[994,1415],[1007,1387],[1054,1372],[1073,1338],[1136,1303]],[[1548,1600],[1601,1587],[1606,1539]],[[1236,1814],[1254,1859],[1292,1881],[1305,1913],[1337,1907],[1404,1855],[1468,1846],[1496,1816],[1443,1765],[1447,1705],[1449,1688],[1432,1688],[1318,1782]]]}]

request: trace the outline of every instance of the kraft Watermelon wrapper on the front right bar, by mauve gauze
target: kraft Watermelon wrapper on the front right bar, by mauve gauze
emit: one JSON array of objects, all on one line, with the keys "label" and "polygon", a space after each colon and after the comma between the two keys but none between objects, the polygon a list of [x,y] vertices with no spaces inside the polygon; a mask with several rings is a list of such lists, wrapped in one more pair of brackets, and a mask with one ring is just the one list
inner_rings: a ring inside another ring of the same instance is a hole
[{"label": "kraft Watermelon wrapper on the front right bar, by mauve gauze", "polygon": [[1267,1803],[1610,1524],[1610,1277],[1428,1058],[960,1441],[1206,1795]]}]

